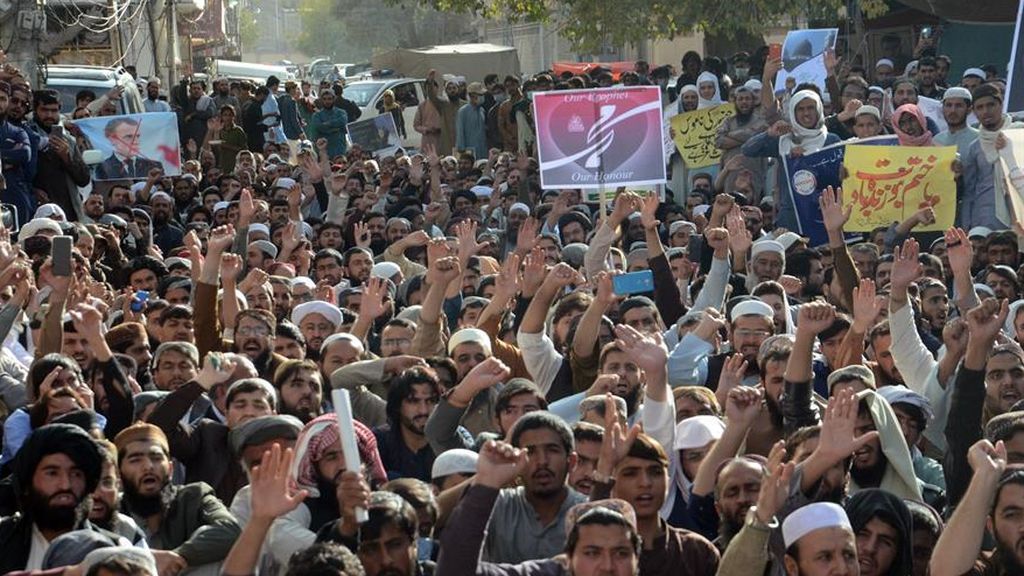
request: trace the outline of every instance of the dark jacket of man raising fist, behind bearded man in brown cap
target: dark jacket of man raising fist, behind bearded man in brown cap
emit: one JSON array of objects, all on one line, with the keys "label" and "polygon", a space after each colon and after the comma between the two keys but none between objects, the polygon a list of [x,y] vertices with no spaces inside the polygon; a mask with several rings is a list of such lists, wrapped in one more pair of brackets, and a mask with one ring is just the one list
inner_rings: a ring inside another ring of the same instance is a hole
[{"label": "dark jacket of man raising fist, behind bearded man in brown cap", "polygon": [[218,498],[230,502],[248,480],[228,448],[227,426],[207,418],[195,424],[181,423],[202,396],[203,386],[188,382],[165,398],[148,421],[167,435],[171,456],[185,466],[186,483],[205,482],[216,489]]}]

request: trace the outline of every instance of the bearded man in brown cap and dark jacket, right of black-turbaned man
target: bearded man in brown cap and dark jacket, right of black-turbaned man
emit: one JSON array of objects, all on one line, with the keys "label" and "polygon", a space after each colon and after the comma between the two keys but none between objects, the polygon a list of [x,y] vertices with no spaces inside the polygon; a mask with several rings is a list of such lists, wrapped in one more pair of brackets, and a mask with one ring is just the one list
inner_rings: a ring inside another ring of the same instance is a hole
[{"label": "bearded man in brown cap and dark jacket, right of black-turbaned man", "polygon": [[164,433],[138,422],[114,444],[125,489],[122,507],[145,529],[161,574],[224,560],[242,529],[205,483],[171,483],[173,463]]}]

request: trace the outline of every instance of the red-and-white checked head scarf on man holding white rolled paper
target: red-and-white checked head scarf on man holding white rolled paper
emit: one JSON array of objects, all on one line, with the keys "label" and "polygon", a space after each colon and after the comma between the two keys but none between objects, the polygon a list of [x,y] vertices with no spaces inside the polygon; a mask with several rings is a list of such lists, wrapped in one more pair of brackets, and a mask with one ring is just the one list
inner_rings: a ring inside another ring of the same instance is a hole
[{"label": "red-and-white checked head scarf on man holding white rolled paper", "polygon": [[[366,424],[352,421],[355,429],[355,443],[359,447],[359,460],[367,467],[371,483],[387,482],[384,463],[377,451],[377,439]],[[316,482],[316,462],[324,452],[341,439],[338,430],[338,416],[333,412],[323,414],[310,420],[295,442],[295,459],[292,461],[291,479],[299,488],[309,492],[312,498],[319,497]]]}]

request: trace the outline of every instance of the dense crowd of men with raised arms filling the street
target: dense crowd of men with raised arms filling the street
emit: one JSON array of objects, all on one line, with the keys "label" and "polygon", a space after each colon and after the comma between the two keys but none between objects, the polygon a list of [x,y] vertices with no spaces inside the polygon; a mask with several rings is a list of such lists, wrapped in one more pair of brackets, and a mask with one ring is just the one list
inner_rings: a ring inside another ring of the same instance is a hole
[{"label": "dense crowd of men with raised arms filling the street", "polygon": [[[1019,126],[998,70],[919,48],[825,86],[767,48],[431,74],[381,111],[422,147],[376,158],[340,84],[150,81],[182,175],[113,181],[75,120],[118,91],[62,110],[6,68],[0,574],[1024,574]],[[620,84],[734,102],[720,167],[543,190],[530,94]],[[826,189],[810,245],[779,159],[886,133],[958,148],[956,225],[849,235]]]}]

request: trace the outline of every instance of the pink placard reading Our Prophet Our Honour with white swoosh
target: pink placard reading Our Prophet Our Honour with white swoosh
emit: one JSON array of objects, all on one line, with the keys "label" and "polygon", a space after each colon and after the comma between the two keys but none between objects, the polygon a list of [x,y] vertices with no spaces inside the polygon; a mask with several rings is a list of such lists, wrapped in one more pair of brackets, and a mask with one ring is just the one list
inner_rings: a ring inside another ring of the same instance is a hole
[{"label": "pink placard reading Our Prophet Our Honour with white swoosh", "polygon": [[665,183],[657,86],[539,92],[534,116],[543,188]]}]

